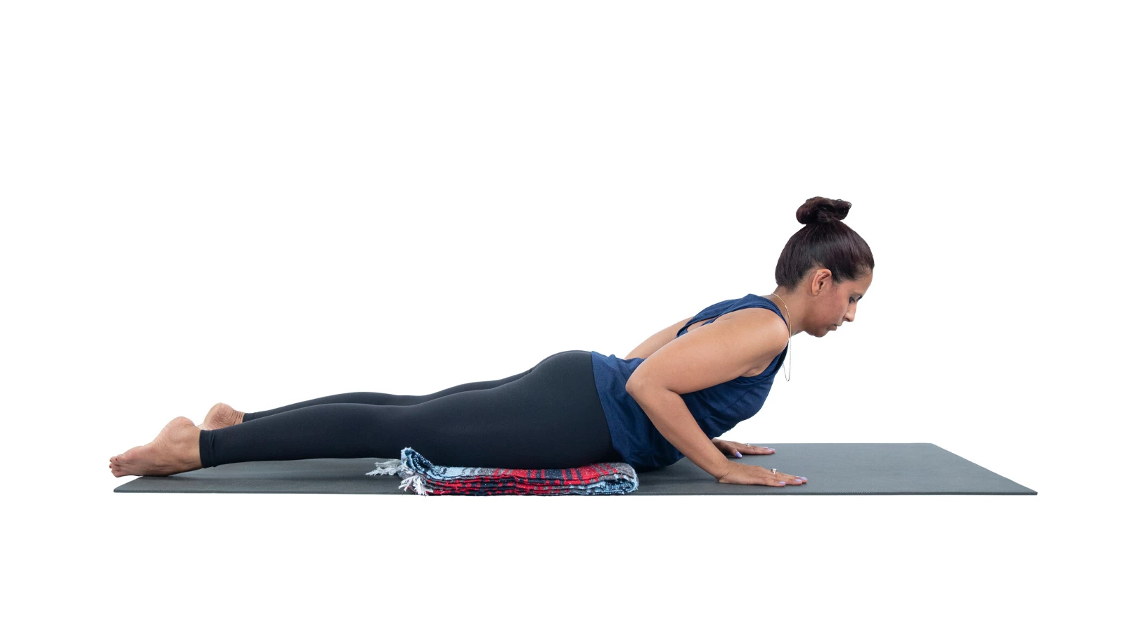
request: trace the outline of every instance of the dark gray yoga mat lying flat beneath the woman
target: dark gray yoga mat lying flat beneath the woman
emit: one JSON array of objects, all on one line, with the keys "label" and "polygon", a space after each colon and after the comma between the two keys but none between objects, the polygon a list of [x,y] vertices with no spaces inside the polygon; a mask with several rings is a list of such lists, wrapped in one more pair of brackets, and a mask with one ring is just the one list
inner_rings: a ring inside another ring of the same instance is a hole
[{"label": "dark gray yoga mat lying flat beneath the woman", "polygon": [[[1037,494],[933,444],[774,444],[773,455],[732,460],[809,478],[802,485],[719,483],[686,457],[637,473],[633,494]],[[397,475],[368,475],[394,457],[223,464],[169,476],[140,476],[114,492],[274,492],[416,494]],[[469,465],[469,464],[446,464]]]}]

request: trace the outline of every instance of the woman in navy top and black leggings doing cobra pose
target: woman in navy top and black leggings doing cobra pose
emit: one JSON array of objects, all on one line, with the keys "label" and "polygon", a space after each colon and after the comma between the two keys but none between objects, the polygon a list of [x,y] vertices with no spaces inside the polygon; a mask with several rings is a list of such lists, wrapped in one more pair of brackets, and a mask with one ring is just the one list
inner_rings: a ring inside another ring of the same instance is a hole
[{"label": "woman in navy top and black leggings doing cobra pose", "polygon": [[394,457],[410,446],[452,466],[628,462],[645,472],[686,456],[722,483],[804,483],[727,458],[772,448],[716,438],[762,408],[794,333],[819,338],[855,320],[875,260],[842,222],[850,207],[806,200],[796,211],[806,226],[782,250],[774,292],[712,304],[626,358],[560,351],[513,376],[429,395],[343,393],[250,413],[219,402],[199,427],[176,418],[109,467],[116,476],[169,475],[235,462]]}]

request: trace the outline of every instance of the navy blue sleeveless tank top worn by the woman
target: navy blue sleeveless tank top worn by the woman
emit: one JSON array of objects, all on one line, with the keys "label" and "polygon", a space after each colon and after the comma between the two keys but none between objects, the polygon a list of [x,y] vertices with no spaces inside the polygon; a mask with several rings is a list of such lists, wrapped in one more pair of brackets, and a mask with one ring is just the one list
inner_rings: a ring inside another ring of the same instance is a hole
[{"label": "navy blue sleeveless tank top worn by the woman", "polygon": [[[748,294],[741,298],[728,298],[704,307],[676,332],[676,338],[686,332],[687,326],[692,323],[703,320],[710,323],[728,312],[747,307],[772,310],[785,321],[785,316],[772,301]],[[705,324],[700,327],[703,328]],[[789,346],[756,376],[738,376],[700,391],[681,394],[687,404],[687,410],[692,412],[709,438],[719,437],[762,409],[770,394],[770,387],[773,386],[774,375],[785,362],[788,351]],[[626,382],[645,359],[624,359],[596,351],[591,351],[591,358],[594,364],[594,384],[602,401],[602,410],[605,411],[605,419],[610,424],[613,448],[638,472],[678,462],[684,454],[660,435],[640,404],[626,392]]]}]

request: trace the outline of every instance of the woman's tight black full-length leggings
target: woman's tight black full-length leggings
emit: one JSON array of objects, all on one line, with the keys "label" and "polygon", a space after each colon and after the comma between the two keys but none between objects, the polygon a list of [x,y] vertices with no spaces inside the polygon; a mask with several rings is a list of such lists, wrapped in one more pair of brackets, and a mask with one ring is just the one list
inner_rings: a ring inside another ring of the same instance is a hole
[{"label": "woman's tight black full-length leggings", "polygon": [[356,392],[248,412],[199,435],[202,467],[316,457],[397,458],[410,446],[444,466],[567,469],[620,462],[590,351],[559,351],[501,378],[429,395]]}]

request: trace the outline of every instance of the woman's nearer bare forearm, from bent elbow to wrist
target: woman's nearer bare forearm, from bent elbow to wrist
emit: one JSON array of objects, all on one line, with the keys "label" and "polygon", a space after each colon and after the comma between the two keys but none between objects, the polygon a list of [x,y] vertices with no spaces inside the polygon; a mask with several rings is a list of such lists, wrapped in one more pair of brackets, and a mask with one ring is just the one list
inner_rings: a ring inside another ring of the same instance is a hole
[{"label": "woman's nearer bare forearm, from bent elbow to wrist", "polygon": [[727,473],[730,461],[708,439],[678,393],[663,387],[639,386],[629,391],[629,395],[652,420],[656,430],[692,463],[716,479]]}]

